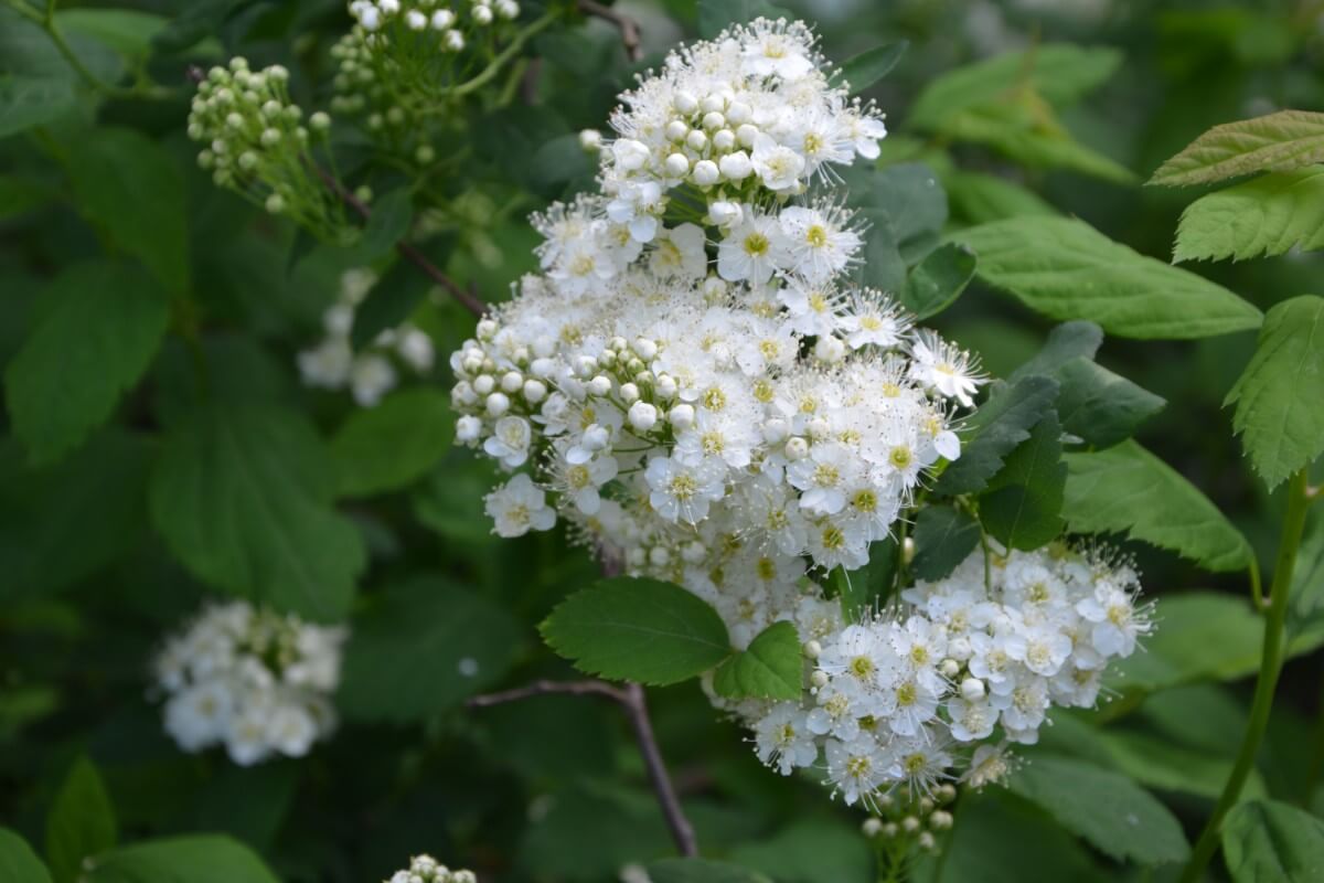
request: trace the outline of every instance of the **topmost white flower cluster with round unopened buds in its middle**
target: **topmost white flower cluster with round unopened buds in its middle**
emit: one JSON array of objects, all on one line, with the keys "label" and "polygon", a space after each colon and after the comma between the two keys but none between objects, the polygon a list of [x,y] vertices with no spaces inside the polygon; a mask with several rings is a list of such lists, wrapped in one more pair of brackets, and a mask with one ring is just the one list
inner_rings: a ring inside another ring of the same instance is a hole
[{"label": "topmost white flower cluster with round unopened buds in its middle", "polygon": [[[829,85],[834,73],[800,21],[759,19],[671,53],[612,116],[620,138],[602,154],[601,180],[613,218],[638,221],[632,234],[646,242],[667,192],[692,187],[714,222],[737,226],[761,196],[802,193],[829,165],[876,159],[882,116]],[[835,237],[816,250],[839,257],[854,234]]]}]

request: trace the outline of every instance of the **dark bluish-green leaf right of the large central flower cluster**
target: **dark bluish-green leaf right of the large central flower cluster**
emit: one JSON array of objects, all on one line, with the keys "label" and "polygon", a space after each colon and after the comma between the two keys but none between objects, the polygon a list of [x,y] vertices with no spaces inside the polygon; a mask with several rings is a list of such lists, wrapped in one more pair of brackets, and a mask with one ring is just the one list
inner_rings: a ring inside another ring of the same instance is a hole
[{"label": "dark bluish-green leaf right of the large central flower cluster", "polygon": [[1168,404],[1083,357],[1059,367],[1053,377],[1062,388],[1057,405],[1062,428],[1100,450],[1131,438]]}]

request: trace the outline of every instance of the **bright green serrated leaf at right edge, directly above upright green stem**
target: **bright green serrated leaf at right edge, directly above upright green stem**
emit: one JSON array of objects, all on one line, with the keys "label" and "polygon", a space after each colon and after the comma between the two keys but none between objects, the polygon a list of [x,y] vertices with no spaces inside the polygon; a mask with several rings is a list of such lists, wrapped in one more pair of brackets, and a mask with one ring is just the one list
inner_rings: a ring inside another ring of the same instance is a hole
[{"label": "bright green serrated leaf at right edge, directly above upright green stem", "polygon": [[1324,453],[1324,298],[1283,301],[1264,316],[1255,355],[1223,406],[1255,471],[1272,488]]}]

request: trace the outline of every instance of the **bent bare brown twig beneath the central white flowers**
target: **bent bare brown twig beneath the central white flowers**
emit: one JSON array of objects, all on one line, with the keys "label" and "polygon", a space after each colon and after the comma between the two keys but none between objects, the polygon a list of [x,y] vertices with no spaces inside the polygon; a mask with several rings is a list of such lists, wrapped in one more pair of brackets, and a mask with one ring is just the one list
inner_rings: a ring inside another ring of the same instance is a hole
[{"label": "bent bare brown twig beneath the central white flowers", "polygon": [[621,706],[634,731],[634,739],[639,743],[639,755],[643,756],[643,767],[649,773],[649,782],[657,794],[666,826],[671,831],[675,847],[685,857],[699,854],[699,843],[694,835],[694,826],[681,809],[681,800],[675,794],[675,786],[666,772],[662,752],[658,749],[657,735],[653,732],[653,721],[649,719],[649,707],[645,700],[643,687],[637,683],[628,683],[624,688],[613,687],[604,680],[535,680],[534,683],[506,690],[503,692],[490,692],[482,696],[473,696],[465,704],[470,708],[489,708],[506,702],[519,702],[532,696],[545,696],[551,694],[571,694],[577,696],[602,696]]}]

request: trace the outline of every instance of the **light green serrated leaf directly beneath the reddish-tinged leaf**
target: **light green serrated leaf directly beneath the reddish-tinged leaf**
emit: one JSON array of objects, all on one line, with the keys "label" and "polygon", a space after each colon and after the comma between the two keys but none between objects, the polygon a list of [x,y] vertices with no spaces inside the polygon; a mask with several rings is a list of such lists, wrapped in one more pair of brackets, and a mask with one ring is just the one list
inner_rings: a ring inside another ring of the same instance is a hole
[{"label": "light green serrated leaf directly beneath the reddish-tinged leaf", "polygon": [[1201,196],[1177,225],[1173,262],[1324,248],[1324,167],[1262,175]]}]

